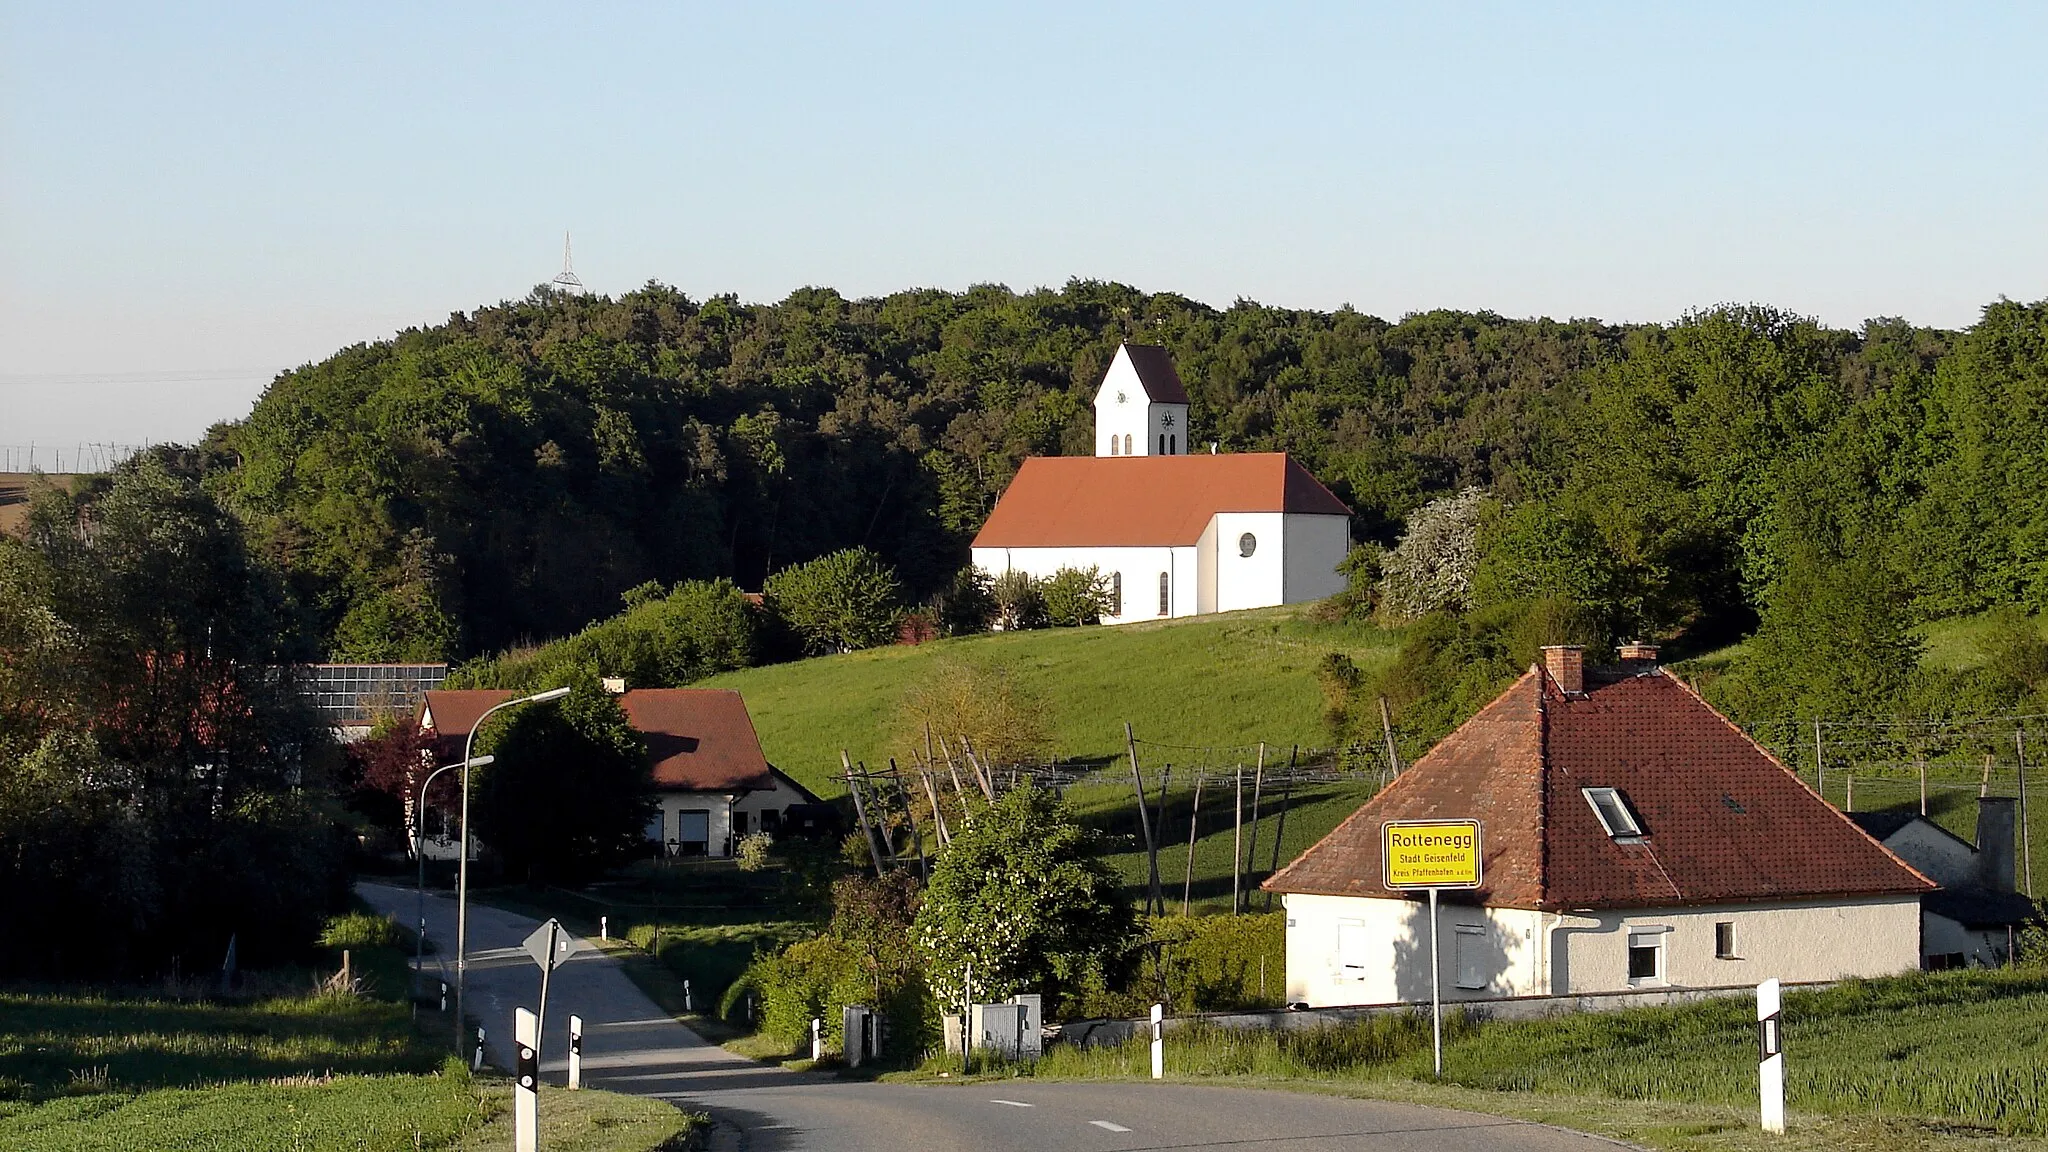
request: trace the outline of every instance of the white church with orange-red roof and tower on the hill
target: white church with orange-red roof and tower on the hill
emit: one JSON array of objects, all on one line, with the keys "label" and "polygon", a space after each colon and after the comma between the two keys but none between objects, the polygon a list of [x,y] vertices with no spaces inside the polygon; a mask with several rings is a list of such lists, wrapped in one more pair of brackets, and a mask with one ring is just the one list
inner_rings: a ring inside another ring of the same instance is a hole
[{"label": "white church with orange-red roof and tower on the hill", "polygon": [[995,502],[983,572],[1100,570],[1102,623],[1321,601],[1343,590],[1352,510],[1286,453],[1190,453],[1165,348],[1122,344],[1096,392],[1096,455],[1030,457]]}]

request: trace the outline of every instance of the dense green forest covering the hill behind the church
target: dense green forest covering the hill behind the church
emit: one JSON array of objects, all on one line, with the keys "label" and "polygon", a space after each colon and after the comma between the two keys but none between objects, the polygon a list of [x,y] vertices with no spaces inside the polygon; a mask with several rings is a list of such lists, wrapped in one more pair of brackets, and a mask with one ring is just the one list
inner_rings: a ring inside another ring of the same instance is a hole
[{"label": "dense green forest covering the hill behind the church", "polygon": [[1389,324],[1083,281],[537,291],[283,375],[209,437],[209,486],[342,658],[565,635],[647,580],[758,588],[846,547],[918,603],[1022,457],[1090,451],[1118,340],[1171,348],[1194,443],[1292,451],[1362,541],[1481,488],[1481,601],[1696,644],[1815,580],[1898,627],[2048,605],[2048,303],[1849,332],[1767,307]]}]

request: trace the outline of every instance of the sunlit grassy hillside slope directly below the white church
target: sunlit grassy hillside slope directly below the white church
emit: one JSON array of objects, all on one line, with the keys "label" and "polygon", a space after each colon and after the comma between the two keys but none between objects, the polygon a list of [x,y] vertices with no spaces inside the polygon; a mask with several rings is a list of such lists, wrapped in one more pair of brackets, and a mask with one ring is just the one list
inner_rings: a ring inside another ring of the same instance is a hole
[{"label": "sunlit grassy hillside slope directly below the white church", "polygon": [[840,748],[870,767],[903,754],[903,695],[942,660],[1008,670],[1047,703],[1061,760],[1110,763],[1124,752],[1124,722],[1167,744],[1266,740],[1282,754],[1290,744],[1327,744],[1317,662],[1343,652],[1370,672],[1397,646],[1397,631],[1317,623],[1284,607],[870,648],[725,672],[700,687],[743,693],[768,758],[829,797],[846,791]]}]

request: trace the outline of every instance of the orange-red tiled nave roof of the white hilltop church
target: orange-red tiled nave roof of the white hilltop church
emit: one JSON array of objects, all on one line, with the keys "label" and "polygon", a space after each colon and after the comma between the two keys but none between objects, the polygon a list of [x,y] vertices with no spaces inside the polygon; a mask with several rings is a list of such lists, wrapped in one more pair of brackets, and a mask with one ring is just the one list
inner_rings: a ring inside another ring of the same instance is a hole
[{"label": "orange-red tiled nave roof of the white hilltop church", "polygon": [[1018,469],[975,547],[1159,547],[1217,512],[1352,510],[1286,453],[1040,455]]}]

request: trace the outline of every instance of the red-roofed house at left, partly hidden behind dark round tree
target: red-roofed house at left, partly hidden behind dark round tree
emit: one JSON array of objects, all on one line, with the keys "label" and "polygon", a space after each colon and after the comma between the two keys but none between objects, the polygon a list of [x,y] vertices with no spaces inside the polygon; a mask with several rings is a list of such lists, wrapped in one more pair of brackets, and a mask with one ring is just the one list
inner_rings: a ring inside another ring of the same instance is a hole
[{"label": "red-roofed house at left, partly hidden behind dark round tree", "polygon": [[[438,738],[440,763],[461,763],[469,728],[512,695],[475,689],[426,693],[420,728]],[[762,754],[754,719],[735,691],[633,689],[618,697],[618,705],[647,742],[659,801],[647,818],[647,842],[664,855],[729,857],[739,836],[776,832],[791,806],[817,804],[817,795]],[[442,828],[438,842],[428,840],[428,855],[453,859],[453,830]]]}]

